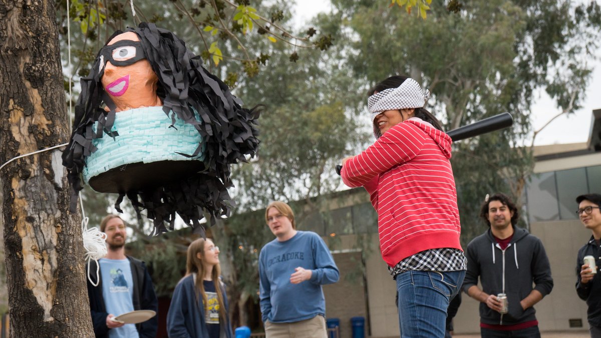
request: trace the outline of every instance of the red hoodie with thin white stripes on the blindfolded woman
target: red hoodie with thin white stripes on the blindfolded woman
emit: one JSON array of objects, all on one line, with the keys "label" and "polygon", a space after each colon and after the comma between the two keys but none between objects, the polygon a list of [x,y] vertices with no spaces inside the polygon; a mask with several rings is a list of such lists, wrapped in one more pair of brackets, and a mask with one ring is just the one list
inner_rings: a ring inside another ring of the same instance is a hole
[{"label": "red hoodie with thin white stripes on the blindfolded woman", "polygon": [[410,118],[344,164],[344,184],[364,186],[370,194],[389,266],[424,250],[462,250],[452,142],[431,124]]}]

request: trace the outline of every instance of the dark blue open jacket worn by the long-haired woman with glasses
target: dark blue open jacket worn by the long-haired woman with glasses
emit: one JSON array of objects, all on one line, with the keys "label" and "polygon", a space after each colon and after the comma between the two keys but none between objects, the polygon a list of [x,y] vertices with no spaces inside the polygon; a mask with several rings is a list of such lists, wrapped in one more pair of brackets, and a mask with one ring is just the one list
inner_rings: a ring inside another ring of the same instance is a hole
[{"label": "dark blue open jacket worn by the long-haired woman with glasses", "polygon": [[[225,287],[222,283],[219,284],[224,297],[225,313],[229,313]],[[173,291],[167,313],[169,338],[209,338],[204,318],[203,298],[195,290],[194,275],[188,275],[177,283]],[[229,318],[225,318],[224,325],[220,326],[220,338],[233,338]]]}]

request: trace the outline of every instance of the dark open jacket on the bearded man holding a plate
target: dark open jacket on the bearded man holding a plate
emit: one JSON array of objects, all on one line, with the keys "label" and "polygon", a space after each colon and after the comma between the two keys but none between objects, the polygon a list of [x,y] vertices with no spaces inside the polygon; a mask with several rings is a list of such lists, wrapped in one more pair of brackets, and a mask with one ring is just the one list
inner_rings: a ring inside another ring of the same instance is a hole
[{"label": "dark open jacket on the bearded man holding a plate", "polygon": [[[150,274],[146,265],[141,260],[133,257],[127,257],[132,268],[133,279],[133,309],[134,310],[153,310],[158,313],[158,301]],[[96,275],[95,261],[90,262],[90,278],[96,283],[99,279]],[[94,335],[97,338],[105,338],[109,336],[109,328],[106,327],[106,312],[105,299],[102,297],[102,278],[98,286],[93,286],[90,280],[87,279],[88,298],[90,298],[90,313],[92,315],[92,325],[94,326]],[[159,321],[157,316],[148,319],[148,321],[136,324],[140,338],[154,338],[156,336]]]}]

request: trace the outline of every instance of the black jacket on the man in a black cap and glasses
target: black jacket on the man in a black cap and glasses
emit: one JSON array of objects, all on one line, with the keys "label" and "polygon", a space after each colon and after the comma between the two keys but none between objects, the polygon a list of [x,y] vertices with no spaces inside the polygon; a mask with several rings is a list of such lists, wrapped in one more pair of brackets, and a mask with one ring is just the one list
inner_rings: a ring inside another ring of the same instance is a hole
[{"label": "black jacket on the man in a black cap and glasses", "polygon": [[594,256],[595,264],[601,266],[599,254],[599,247],[595,244],[594,237],[591,236],[590,241],[578,250],[578,258],[576,259],[576,293],[578,293],[581,300],[587,301],[588,324],[595,327],[601,327],[601,277],[599,277],[599,271],[597,271],[593,280],[581,284],[580,271],[584,264],[584,256]]}]

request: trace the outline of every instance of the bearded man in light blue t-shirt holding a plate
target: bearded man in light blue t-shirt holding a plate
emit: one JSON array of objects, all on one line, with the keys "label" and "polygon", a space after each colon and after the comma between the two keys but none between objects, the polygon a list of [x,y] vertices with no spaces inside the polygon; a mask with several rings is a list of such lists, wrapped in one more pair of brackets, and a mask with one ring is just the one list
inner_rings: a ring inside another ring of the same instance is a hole
[{"label": "bearded man in light blue t-shirt holding a plate", "polygon": [[158,325],[156,316],[136,325],[113,319],[133,310],[157,312],[158,303],[144,262],[125,255],[127,227],[123,220],[117,215],[107,215],[100,222],[100,231],[106,233],[108,253],[98,261],[99,273],[96,262],[90,262],[87,281],[94,335],[154,338]]}]

